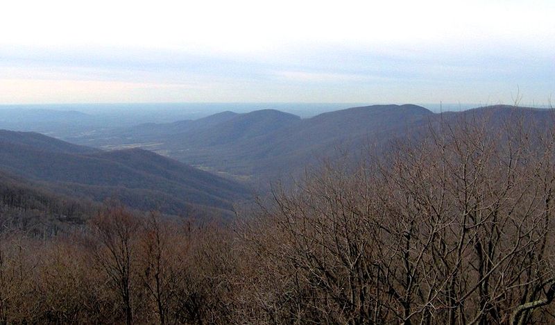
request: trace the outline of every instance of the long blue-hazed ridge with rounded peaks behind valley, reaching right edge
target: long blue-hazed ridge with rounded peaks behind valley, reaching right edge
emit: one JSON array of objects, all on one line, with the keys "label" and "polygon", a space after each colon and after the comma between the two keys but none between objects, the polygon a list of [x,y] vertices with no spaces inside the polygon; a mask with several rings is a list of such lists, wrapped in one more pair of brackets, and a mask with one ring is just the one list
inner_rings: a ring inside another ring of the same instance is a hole
[{"label": "long blue-hazed ridge with rounded peaks behind valley, reaching right edge", "polygon": [[547,118],[550,112],[498,105],[440,114],[406,104],[361,106],[301,119],[278,110],[257,110],[141,124],[68,140],[104,149],[141,147],[202,169],[264,184],[280,175],[299,174],[338,149],[386,148],[395,139],[416,135],[441,121],[472,116],[499,124],[518,115],[527,123],[545,125],[551,121]]}]

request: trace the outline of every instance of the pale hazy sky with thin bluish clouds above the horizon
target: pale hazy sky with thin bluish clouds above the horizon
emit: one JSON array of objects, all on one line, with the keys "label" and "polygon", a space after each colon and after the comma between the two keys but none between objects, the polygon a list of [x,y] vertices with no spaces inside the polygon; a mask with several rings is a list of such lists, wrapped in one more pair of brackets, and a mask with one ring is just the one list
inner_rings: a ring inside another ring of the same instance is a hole
[{"label": "pale hazy sky with thin bluish clouds above the horizon", "polygon": [[[523,103],[555,1],[2,2],[0,103]],[[554,99],[555,101],[555,99]]]}]

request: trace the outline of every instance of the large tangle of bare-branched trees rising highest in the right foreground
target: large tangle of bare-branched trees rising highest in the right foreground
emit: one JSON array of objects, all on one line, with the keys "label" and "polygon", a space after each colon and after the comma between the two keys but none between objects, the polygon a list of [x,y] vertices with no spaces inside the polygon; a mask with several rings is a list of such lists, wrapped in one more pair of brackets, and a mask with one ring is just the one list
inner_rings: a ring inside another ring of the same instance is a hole
[{"label": "large tangle of bare-branched trees rising highest in the right foreground", "polygon": [[472,117],[432,125],[382,159],[327,165],[293,192],[275,190],[262,209],[268,230],[245,237],[289,270],[280,276],[291,279],[293,320],[549,317],[533,310],[553,299],[554,138],[514,117],[489,126]]}]

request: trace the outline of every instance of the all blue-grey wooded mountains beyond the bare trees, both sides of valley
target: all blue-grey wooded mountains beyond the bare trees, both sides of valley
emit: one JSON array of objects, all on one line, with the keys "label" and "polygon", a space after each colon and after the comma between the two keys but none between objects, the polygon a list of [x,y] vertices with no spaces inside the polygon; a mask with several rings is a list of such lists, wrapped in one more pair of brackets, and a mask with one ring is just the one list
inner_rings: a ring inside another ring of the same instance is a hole
[{"label": "all blue-grey wooded mountains beyond the bare trees, both sides of valley", "polygon": [[0,131],[0,180],[10,184],[4,192],[16,198],[3,201],[26,197],[26,204],[34,202],[31,206],[42,200],[88,202],[89,207],[117,199],[137,210],[229,216],[234,203],[252,198],[252,188],[264,192],[271,181],[298,176],[323,158],[344,150],[387,150],[396,140],[418,138],[438,124],[469,118],[491,132],[518,123],[538,130],[555,125],[552,110],[487,106],[438,114],[407,104],[348,108],[305,119],[279,110],[225,111],[78,133],[64,139],[69,142]]}]

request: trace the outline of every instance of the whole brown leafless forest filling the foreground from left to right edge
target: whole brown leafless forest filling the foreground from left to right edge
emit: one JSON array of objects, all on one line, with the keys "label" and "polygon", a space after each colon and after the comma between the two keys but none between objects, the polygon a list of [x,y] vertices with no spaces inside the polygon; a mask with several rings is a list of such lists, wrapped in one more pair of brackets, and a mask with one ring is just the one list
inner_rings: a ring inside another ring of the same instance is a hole
[{"label": "whole brown leafless forest filling the foreground from left to right edge", "polygon": [[0,321],[551,323],[552,122],[438,119],[226,222],[3,189],[2,211],[83,222],[45,235],[2,217]]}]

